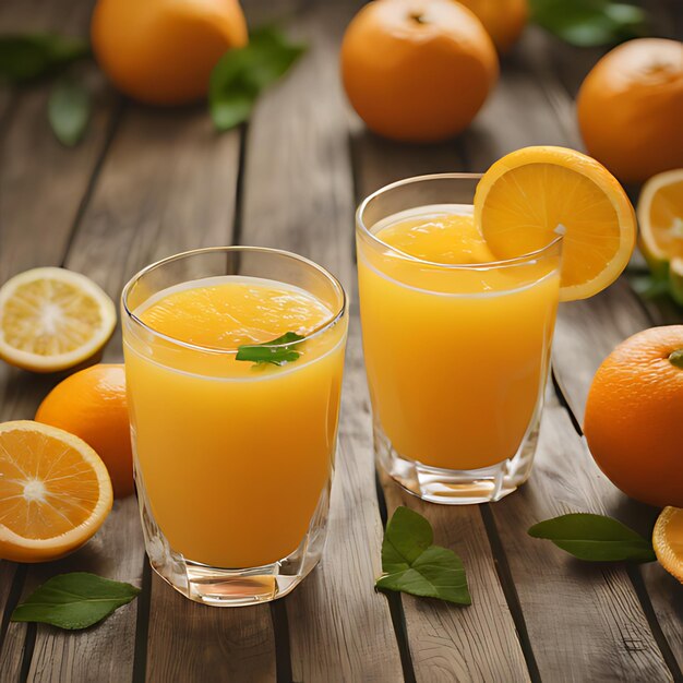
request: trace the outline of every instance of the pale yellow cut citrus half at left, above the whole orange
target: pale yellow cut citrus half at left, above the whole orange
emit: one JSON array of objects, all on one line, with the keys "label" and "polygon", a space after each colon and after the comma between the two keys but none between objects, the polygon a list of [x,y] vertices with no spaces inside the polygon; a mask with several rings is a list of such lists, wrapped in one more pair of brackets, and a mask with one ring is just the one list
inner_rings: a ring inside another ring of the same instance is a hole
[{"label": "pale yellow cut citrus half at left, above the whole orange", "polygon": [[34,268],[0,288],[0,358],[55,372],[93,357],[116,326],[111,299],[89,278],[65,268]]}]

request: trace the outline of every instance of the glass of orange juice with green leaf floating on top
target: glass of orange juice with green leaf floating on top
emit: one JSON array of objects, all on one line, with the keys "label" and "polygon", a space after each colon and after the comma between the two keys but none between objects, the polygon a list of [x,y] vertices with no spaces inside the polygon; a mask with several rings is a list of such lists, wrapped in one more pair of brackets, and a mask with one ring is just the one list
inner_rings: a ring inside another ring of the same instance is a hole
[{"label": "glass of orange juice with green leaf floating on top", "polygon": [[325,540],[347,334],[339,283],[249,247],[155,263],[125,286],[135,483],[154,570],[187,597],[280,597]]}]

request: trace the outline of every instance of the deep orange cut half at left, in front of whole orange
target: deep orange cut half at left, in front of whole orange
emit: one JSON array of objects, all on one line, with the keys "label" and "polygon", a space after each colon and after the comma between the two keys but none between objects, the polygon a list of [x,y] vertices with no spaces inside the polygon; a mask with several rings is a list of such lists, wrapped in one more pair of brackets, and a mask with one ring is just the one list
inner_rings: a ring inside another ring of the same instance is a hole
[{"label": "deep orange cut half at left, in front of whole orange", "polygon": [[111,510],[105,464],[56,427],[0,424],[0,558],[57,560],[85,543]]}]

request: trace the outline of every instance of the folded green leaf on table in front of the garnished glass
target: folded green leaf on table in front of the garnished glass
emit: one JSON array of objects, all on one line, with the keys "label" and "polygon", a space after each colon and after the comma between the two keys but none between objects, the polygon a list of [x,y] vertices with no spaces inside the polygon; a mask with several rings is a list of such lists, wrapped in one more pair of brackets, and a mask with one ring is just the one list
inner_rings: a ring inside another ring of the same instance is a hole
[{"label": "folded green leaf on table in front of the garnished glass", "polygon": [[456,604],[471,604],[465,567],[447,548],[433,546],[434,532],[422,515],[397,507],[382,543],[382,571],[375,586]]}]

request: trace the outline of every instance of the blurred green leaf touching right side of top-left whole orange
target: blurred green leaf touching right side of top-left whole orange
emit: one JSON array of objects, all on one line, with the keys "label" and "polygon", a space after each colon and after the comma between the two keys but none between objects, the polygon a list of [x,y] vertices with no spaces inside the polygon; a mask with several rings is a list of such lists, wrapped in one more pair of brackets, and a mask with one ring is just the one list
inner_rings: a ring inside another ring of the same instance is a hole
[{"label": "blurred green leaf touching right side of top-left whole orange", "polygon": [[208,107],[216,128],[226,131],[247,121],[261,92],[285,75],[305,49],[274,26],[265,26],[251,33],[245,47],[228,50],[208,85]]}]

